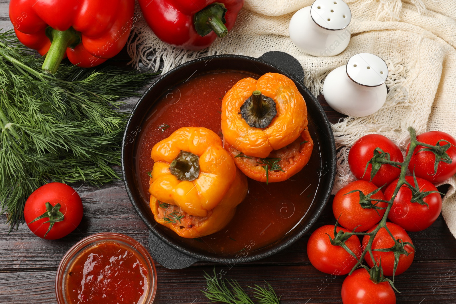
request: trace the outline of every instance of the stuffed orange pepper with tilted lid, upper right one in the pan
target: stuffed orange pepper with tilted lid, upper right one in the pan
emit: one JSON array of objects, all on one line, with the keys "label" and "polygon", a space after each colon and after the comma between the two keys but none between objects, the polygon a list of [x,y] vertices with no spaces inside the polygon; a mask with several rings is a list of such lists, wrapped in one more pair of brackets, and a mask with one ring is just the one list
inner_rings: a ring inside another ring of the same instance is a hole
[{"label": "stuffed orange pepper with tilted lid, upper right one in the pan", "polygon": [[263,182],[299,172],[313,148],[306,102],[295,83],[278,73],[241,79],[225,94],[222,132],[238,168]]}]

